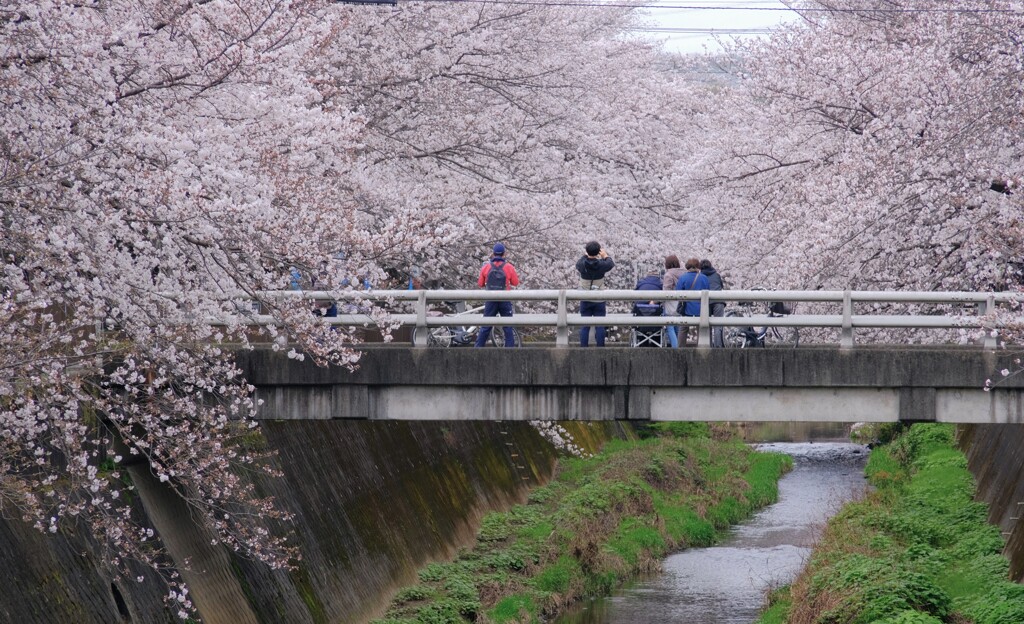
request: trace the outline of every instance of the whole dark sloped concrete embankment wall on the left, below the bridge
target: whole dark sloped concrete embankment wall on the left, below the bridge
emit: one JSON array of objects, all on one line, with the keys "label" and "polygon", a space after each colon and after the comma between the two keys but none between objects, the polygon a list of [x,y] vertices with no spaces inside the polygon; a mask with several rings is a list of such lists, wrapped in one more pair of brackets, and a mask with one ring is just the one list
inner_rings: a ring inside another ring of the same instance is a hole
[{"label": "whole dark sloped concrete embankment wall on the left, below the bridge", "polygon": [[[566,426],[588,449],[623,433],[616,423]],[[521,422],[264,421],[258,430],[251,444],[275,451],[284,476],[257,486],[295,516],[275,528],[301,551],[293,572],[211,546],[176,497],[131,470],[141,512],[207,624],[367,621],[417,569],[470,543],[484,513],[545,483],[556,461]],[[179,621],[157,575],[119,581],[80,533],[43,536],[16,518],[0,518],[0,621]]]}]

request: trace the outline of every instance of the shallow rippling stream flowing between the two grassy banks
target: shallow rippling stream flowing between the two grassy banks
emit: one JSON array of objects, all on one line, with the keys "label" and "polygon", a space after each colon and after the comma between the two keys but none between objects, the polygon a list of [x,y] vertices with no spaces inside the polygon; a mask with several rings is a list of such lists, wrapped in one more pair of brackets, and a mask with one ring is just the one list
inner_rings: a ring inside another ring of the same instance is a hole
[{"label": "shallow rippling stream flowing between the two grassy banks", "polygon": [[584,602],[557,624],[750,624],[766,591],[792,582],[825,521],[864,491],[867,449],[849,443],[771,443],[794,469],[779,500],[716,546],[670,555],[663,572]]}]

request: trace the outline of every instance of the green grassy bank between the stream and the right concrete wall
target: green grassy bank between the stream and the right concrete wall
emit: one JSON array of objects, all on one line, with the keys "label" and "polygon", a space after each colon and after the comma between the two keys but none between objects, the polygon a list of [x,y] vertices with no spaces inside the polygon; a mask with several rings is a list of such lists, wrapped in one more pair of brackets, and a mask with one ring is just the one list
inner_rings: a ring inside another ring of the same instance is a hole
[{"label": "green grassy bank between the stream and the right concrete wall", "polygon": [[953,427],[918,424],[874,449],[876,491],[829,521],[760,624],[1021,624],[999,530],[974,502]]}]

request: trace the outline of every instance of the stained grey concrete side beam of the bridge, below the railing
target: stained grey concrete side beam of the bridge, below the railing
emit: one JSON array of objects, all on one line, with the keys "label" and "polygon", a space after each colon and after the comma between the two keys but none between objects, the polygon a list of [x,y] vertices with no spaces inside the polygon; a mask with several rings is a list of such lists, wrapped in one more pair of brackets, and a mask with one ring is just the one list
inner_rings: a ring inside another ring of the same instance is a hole
[{"label": "stained grey concrete side beam of the bridge, below the railing", "polygon": [[[1015,355],[841,349],[368,347],[359,368],[239,355],[260,419],[1024,423]],[[985,391],[986,380],[996,382]]]}]

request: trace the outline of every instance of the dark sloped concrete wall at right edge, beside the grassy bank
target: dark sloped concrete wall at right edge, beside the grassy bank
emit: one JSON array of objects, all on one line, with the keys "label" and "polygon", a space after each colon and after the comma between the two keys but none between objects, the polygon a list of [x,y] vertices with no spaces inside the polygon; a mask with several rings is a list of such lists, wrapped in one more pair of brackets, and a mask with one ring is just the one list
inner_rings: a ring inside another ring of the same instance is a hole
[{"label": "dark sloped concrete wall at right edge, beside the grassy bank", "polygon": [[989,505],[988,522],[1007,540],[1010,576],[1024,581],[1024,425],[961,425],[961,449],[978,482],[978,499]]}]

